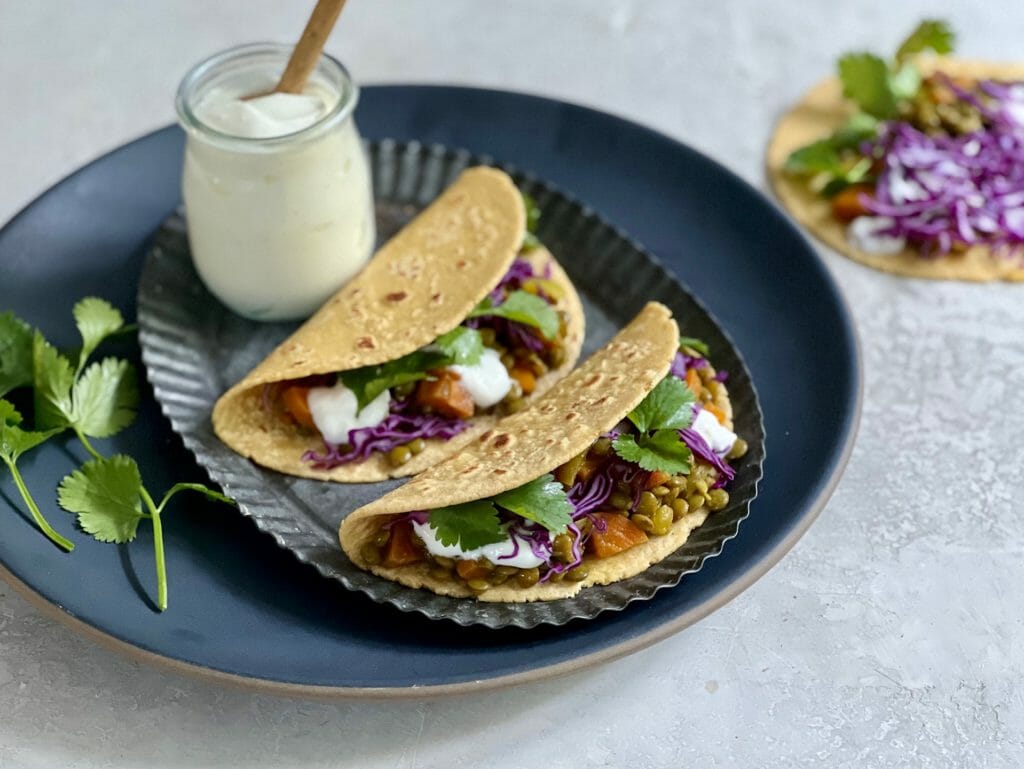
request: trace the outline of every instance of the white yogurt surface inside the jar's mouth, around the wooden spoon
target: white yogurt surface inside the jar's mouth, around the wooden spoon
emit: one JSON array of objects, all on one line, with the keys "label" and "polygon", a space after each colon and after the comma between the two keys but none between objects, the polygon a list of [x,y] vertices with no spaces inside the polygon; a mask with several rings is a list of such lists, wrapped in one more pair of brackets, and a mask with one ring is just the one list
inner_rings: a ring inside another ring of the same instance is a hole
[{"label": "white yogurt surface inside the jar's mouth, around the wooden spoon", "polygon": [[196,117],[211,128],[247,139],[265,139],[301,131],[328,112],[311,93],[268,93],[251,99],[211,90],[196,105]]}]

